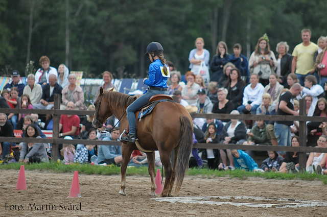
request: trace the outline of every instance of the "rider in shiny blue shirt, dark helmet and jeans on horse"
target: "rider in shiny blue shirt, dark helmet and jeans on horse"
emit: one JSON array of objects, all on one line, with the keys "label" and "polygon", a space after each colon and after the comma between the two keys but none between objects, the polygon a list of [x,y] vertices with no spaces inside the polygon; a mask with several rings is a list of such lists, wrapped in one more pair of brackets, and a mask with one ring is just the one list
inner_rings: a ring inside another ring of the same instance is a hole
[{"label": "rider in shiny blue shirt, dark helmet and jeans on horse", "polygon": [[164,48],[162,48],[161,44],[158,42],[151,42],[147,47],[145,56],[149,56],[152,63],[149,66],[149,78],[145,78],[143,83],[148,85],[149,88],[126,109],[129,134],[122,137],[123,141],[135,142],[135,140],[137,140],[135,112],[139,108],[147,105],[153,95],[168,94],[167,79],[170,78],[170,73],[163,53]]}]

